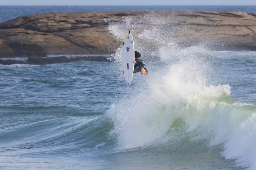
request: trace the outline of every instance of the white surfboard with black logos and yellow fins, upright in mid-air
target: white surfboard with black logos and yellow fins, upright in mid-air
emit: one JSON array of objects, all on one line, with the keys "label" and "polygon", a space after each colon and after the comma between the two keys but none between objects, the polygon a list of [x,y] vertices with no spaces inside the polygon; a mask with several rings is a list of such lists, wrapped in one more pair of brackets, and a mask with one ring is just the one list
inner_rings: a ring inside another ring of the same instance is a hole
[{"label": "white surfboard with black logos and yellow fins, upright in mid-air", "polygon": [[122,40],[122,73],[126,81],[130,84],[133,77],[133,69],[135,60],[134,56],[134,40],[132,34],[126,34],[124,40]]}]

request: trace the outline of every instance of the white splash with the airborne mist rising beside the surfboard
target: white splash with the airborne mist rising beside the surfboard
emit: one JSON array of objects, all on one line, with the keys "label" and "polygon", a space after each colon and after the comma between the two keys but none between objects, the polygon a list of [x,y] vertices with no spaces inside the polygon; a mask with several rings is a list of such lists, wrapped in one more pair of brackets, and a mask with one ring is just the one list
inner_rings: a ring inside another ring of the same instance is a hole
[{"label": "white splash with the airborne mist rising beside the surfboard", "polygon": [[[154,21],[149,22],[152,18]],[[145,59],[148,63],[152,62],[146,81],[137,84],[141,88],[108,110],[119,149],[163,143],[171,147],[183,135],[189,141],[207,141],[209,147],[220,144],[223,157],[235,159],[237,166],[255,169],[256,106],[234,99],[228,84],[209,84],[214,74],[210,63],[216,52],[208,51],[204,45],[179,47],[166,38],[167,28],[153,24],[164,19],[153,13],[141,20],[127,17],[122,23],[109,26],[117,38],[124,35],[124,25],[130,26],[136,48],[149,56]],[[151,24],[142,29],[137,25],[139,21]],[[154,48],[149,50],[150,43]],[[158,60],[151,60],[154,56]],[[160,67],[156,67],[158,64]]]}]

